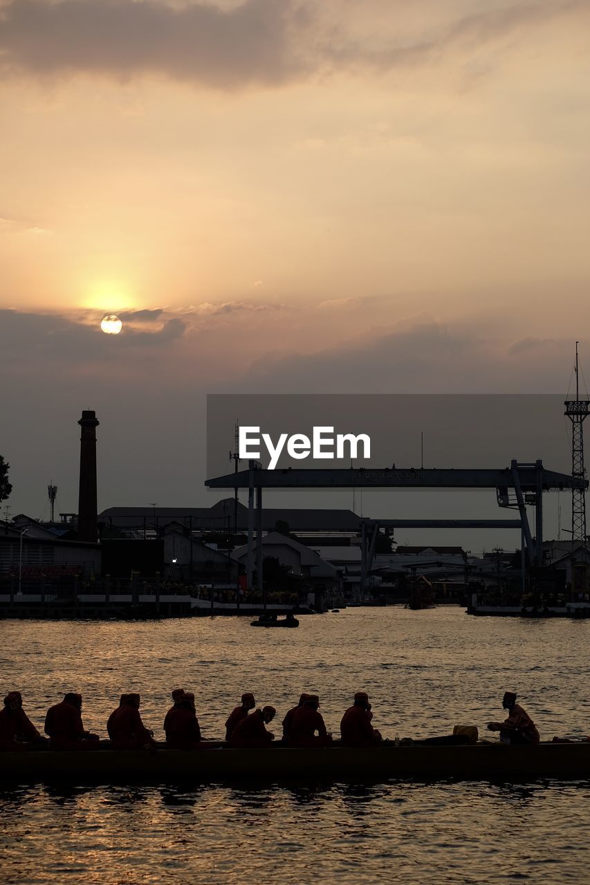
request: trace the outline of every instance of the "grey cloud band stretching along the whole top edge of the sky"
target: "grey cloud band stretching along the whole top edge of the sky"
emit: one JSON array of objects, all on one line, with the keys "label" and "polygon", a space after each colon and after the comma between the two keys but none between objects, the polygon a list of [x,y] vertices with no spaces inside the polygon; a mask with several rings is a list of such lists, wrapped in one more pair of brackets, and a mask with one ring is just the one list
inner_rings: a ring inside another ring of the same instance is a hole
[{"label": "grey cloud band stretching along the whole top edge of the sky", "polygon": [[[378,6],[365,0],[365,21]],[[353,7],[342,0],[245,0],[229,9],[162,0],[12,0],[0,6],[0,57],[4,72],[42,77],[89,73],[127,80],[147,73],[244,89],[335,69],[414,67],[452,51],[465,57],[463,73],[471,70],[477,79],[482,61],[472,58],[474,50],[516,32],[530,38],[535,24],[587,8],[586,0],[508,6],[490,0],[484,12],[467,16],[440,3],[429,17],[426,4],[420,26],[408,34],[403,4],[392,6],[385,19],[376,17],[372,32],[363,27],[359,36]],[[423,22],[430,19],[436,24],[427,30]]]}]

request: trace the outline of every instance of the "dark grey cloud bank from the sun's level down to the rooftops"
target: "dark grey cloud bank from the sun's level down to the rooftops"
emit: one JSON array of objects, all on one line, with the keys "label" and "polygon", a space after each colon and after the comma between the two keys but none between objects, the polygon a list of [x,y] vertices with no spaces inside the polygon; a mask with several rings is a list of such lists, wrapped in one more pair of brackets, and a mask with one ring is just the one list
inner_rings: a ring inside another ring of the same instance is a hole
[{"label": "dark grey cloud bank from the sun's level down to the rooftops", "polygon": [[[244,314],[231,316],[242,327]],[[277,348],[237,368],[225,348],[225,327],[211,332],[219,335],[220,353],[212,359],[201,353],[198,328],[184,322],[163,312],[152,333],[126,328],[113,336],[56,314],[0,311],[0,453],[12,466],[13,512],[39,515],[50,478],[59,487],[59,510],[75,510],[82,409],[96,409],[101,422],[101,507],[205,505],[213,501],[203,489],[206,393],[565,392],[573,355],[573,342],[490,342],[484,330],[432,320],[377,327],[307,355]],[[587,347],[582,342],[580,351]],[[555,421],[561,431],[560,402]],[[515,428],[509,421],[507,427],[512,440]],[[454,433],[453,424],[449,429],[441,419],[428,436],[429,457],[446,433]],[[231,445],[229,439],[228,450]],[[563,446],[567,453],[565,433]],[[519,457],[521,449],[540,457],[542,448],[514,439]],[[392,458],[401,454],[398,447]],[[282,503],[308,505],[291,495]]]}]

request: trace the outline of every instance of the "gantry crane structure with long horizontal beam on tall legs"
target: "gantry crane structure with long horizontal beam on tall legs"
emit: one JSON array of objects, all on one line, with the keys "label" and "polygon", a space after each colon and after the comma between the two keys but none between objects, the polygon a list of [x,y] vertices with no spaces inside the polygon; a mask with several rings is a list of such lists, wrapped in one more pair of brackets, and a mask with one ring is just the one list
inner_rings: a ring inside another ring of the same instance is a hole
[{"label": "gantry crane structure with long horizontal beam on tall legs", "polygon": [[[248,586],[252,586],[254,552],[258,587],[262,589],[262,489],[495,489],[500,507],[518,511],[519,519],[426,519],[426,520],[367,520],[363,537],[363,568],[368,572],[371,544],[379,527],[388,523],[401,527],[480,527],[519,528],[523,556],[529,566],[540,566],[543,561],[543,493],[549,491],[586,491],[588,481],[568,473],[547,470],[538,459],[532,462],[513,460],[509,467],[350,467],[341,468],[279,468],[267,470],[256,461],[250,461],[247,470],[228,473],[206,480],[209,489],[248,489],[248,554],[246,571]],[[535,508],[535,537],[529,524],[527,506]],[[254,527],[256,544],[254,545]],[[361,534],[363,530],[361,527]]]}]

